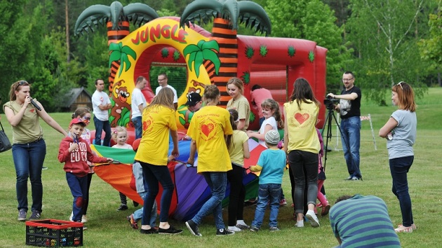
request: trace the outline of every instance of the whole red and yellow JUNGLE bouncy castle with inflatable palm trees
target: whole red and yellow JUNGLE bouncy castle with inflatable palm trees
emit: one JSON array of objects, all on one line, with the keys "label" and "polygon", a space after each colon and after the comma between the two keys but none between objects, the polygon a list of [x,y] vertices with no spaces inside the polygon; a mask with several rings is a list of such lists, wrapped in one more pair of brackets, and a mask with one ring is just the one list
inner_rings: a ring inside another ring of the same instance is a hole
[{"label": "whole red and yellow JUNGLE bouncy castle with inflatable palm trees", "polygon": [[[213,4],[213,9],[207,9],[208,3]],[[244,82],[244,95],[249,100],[251,87],[259,84],[270,90],[282,105],[290,96],[295,79],[302,77],[312,84],[319,101],[323,101],[327,49],[303,39],[237,35],[238,20],[265,34],[270,34],[271,22],[264,9],[251,1],[229,1],[232,3],[236,5],[197,0],[187,6],[181,18],[159,18],[145,4],[123,7],[118,1],[111,6],[94,5],[81,13],[75,25],[76,34],[107,23],[109,97],[113,106],[109,116],[113,127],[130,126],[130,94],[135,79],[149,78],[152,64],[187,68],[187,84],[178,96],[177,110],[178,128],[184,132],[193,115],[185,106],[187,95],[191,92],[202,95],[204,86],[213,83],[220,88],[221,105],[225,106],[230,99],[226,83],[233,76]],[[232,13],[222,12],[229,8]],[[212,17],[215,18],[211,33],[193,23],[207,22]],[[139,28],[129,32],[130,22]],[[151,86],[156,84],[149,82],[142,90],[147,102],[154,97]],[[254,118],[256,111],[252,109],[249,126],[255,130],[259,129]],[[324,108],[319,115],[325,115]]]}]

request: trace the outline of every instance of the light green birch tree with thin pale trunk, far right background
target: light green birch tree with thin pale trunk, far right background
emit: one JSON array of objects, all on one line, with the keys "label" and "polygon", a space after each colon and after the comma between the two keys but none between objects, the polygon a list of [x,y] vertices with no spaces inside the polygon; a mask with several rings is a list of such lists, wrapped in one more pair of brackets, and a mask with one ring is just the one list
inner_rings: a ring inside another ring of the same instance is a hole
[{"label": "light green birch tree with thin pale trunk, far right background", "polygon": [[[363,94],[380,102],[399,81],[411,83],[417,96],[427,90],[422,78],[429,63],[420,60],[417,41],[427,34],[431,1],[351,1],[347,39],[356,57],[349,64]],[[399,11],[401,10],[401,11]]]}]

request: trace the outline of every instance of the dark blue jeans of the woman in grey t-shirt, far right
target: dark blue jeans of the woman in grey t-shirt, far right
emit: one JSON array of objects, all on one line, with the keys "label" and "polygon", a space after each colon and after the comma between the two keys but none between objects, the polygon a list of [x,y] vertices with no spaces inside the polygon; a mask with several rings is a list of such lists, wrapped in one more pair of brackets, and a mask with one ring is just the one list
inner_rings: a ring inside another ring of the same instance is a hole
[{"label": "dark blue jeans of the woman in grey t-shirt, far right", "polygon": [[408,180],[407,173],[413,165],[414,156],[392,158],[389,160],[391,178],[393,179],[393,191],[394,195],[399,200],[402,212],[402,225],[411,226],[413,221],[413,211],[411,209],[411,199],[408,193]]}]

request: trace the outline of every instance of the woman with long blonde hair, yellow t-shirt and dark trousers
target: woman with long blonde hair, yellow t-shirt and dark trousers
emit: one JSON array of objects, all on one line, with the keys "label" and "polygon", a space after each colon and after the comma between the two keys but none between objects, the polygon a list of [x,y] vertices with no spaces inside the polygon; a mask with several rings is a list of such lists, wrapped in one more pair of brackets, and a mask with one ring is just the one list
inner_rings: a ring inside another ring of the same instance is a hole
[{"label": "woman with long blonde hair, yellow t-shirt and dark trousers", "polygon": [[167,167],[169,132],[173,141],[172,156],[180,155],[178,152],[178,132],[173,96],[173,90],[162,88],[151,104],[142,112],[142,137],[138,151],[135,154],[135,162],[140,163],[142,175],[148,186],[146,197],[143,199],[143,216],[140,230],[143,234],[157,233],[153,226],[149,226],[149,220],[152,206],[159,192],[158,183],[163,186],[158,233],[182,233],[182,230],[175,229],[168,223],[170,201],[175,188]]}]

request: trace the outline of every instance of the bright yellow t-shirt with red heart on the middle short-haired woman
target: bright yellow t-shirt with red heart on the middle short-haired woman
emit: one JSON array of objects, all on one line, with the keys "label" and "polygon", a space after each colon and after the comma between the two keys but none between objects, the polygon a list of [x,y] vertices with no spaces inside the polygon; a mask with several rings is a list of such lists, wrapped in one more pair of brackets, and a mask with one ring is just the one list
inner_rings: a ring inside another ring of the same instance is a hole
[{"label": "bright yellow t-shirt with red heart on the middle short-haired woman", "polygon": [[196,142],[198,173],[232,170],[224,135],[232,135],[230,113],[219,106],[204,106],[194,113],[187,135]]}]

